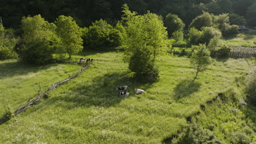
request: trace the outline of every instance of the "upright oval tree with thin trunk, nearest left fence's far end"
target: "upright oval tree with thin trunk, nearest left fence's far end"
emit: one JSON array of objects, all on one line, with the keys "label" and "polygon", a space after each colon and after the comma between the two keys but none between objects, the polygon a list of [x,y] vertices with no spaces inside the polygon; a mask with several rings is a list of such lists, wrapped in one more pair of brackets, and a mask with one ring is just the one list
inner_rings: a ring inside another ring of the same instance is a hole
[{"label": "upright oval tree with thin trunk, nearest left fence's far end", "polygon": [[56,23],[57,35],[61,38],[61,46],[63,53],[68,53],[69,58],[71,55],[83,50],[82,30],[71,16],[59,16]]}]

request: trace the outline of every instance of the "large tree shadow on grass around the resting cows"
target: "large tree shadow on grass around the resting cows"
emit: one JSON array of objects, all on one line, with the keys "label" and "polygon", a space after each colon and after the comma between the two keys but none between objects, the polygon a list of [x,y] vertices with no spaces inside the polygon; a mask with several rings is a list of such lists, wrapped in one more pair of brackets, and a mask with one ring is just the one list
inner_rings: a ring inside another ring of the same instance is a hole
[{"label": "large tree shadow on grass around the resting cows", "polygon": [[[134,83],[133,81],[127,78],[124,73],[105,74],[94,78],[91,83],[83,83],[82,86],[75,87],[68,92],[61,92],[59,96],[49,98],[44,103],[45,105],[53,105],[58,101],[65,101],[68,104],[62,106],[67,109],[73,109],[74,107],[114,106],[124,99],[133,97],[135,95],[134,88],[147,90],[151,86],[151,83]],[[119,91],[116,90],[117,87],[124,85],[129,86],[129,97],[120,96]],[[34,111],[37,110],[34,109],[31,112]]]}]

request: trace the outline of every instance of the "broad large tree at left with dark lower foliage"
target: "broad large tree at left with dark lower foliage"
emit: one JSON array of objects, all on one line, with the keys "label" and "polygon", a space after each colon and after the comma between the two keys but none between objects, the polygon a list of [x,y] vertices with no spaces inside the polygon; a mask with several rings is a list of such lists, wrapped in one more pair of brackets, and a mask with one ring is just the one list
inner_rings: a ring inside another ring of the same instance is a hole
[{"label": "broad large tree at left with dark lower foliage", "polygon": [[44,64],[53,59],[55,51],[53,23],[48,23],[40,15],[22,17],[21,27],[24,31],[21,57],[25,61]]}]

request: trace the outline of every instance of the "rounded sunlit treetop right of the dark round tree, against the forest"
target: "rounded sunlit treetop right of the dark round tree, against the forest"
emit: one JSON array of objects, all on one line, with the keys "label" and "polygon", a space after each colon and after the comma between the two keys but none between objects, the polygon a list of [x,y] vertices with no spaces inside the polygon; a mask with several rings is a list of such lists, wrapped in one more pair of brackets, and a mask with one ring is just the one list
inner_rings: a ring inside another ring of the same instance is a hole
[{"label": "rounded sunlit treetop right of the dark round tree, against the forest", "polygon": [[213,25],[212,16],[208,12],[203,12],[202,15],[197,16],[189,25],[189,28],[195,27],[201,29],[202,27],[211,27]]}]

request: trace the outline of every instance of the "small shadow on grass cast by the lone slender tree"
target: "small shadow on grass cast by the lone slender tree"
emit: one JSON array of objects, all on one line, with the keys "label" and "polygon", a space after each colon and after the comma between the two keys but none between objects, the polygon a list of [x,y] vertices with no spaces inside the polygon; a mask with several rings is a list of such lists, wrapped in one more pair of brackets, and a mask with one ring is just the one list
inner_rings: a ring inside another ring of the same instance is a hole
[{"label": "small shadow on grass cast by the lone slender tree", "polygon": [[189,97],[194,92],[199,91],[200,86],[201,83],[195,82],[193,79],[183,80],[174,88],[174,99]]}]

